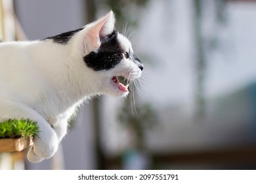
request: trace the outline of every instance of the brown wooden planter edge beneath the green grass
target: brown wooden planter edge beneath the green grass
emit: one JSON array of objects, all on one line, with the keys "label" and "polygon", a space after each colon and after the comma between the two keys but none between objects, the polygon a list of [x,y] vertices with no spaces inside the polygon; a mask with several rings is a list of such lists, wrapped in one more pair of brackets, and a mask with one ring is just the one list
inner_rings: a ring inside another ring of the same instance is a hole
[{"label": "brown wooden planter edge beneath the green grass", "polygon": [[33,144],[32,138],[0,139],[0,152],[21,151]]}]

